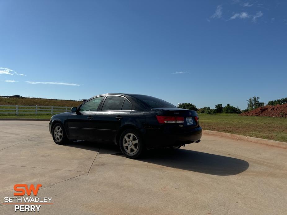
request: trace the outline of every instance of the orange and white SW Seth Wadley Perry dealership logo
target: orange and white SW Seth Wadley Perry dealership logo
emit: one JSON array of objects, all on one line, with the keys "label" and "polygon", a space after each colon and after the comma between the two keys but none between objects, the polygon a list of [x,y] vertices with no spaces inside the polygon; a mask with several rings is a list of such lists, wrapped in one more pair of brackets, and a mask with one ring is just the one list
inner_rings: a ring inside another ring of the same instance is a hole
[{"label": "orange and white SW Seth Wadley Perry dealership logo", "polygon": [[[31,184],[15,184],[14,185],[14,196],[16,197],[4,197],[3,204],[14,205],[14,211],[20,212],[39,212],[42,204],[53,204],[51,203],[52,197],[36,197],[38,195],[39,188],[42,184],[34,186]],[[28,197],[24,195],[27,194]],[[34,197],[30,196],[31,194]]]}]

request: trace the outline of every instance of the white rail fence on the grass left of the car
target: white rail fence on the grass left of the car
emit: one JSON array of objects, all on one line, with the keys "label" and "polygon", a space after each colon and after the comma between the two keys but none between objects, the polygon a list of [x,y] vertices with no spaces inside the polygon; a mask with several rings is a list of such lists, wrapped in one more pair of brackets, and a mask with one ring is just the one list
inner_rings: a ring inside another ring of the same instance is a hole
[{"label": "white rail fence on the grass left of the car", "polygon": [[1,114],[57,114],[69,112],[70,107],[56,107],[56,106],[29,106],[29,105],[0,105]]}]

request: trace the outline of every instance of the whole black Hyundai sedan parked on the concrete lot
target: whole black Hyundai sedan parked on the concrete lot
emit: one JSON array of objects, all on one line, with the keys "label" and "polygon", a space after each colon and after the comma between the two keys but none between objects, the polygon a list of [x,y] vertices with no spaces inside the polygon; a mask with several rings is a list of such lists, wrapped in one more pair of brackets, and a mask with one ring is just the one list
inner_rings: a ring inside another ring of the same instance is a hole
[{"label": "whole black Hyundai sedan parked on the concrete lot", "polygon": [[202,135],[195,111],[152,96],[103,94],[71,112],[52,116],[49,131],[57,144],[69,139],[113,142],[128,158],[151,148],[179,148]]}]

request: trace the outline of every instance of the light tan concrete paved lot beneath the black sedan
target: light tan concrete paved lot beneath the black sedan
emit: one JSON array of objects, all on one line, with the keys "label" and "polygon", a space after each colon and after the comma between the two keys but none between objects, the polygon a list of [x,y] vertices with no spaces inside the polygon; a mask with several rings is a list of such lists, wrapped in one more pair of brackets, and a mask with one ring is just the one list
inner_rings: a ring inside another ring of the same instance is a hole
[{"label": "light tan concrete paved lot beneath the black sedan", "polygon": [[47,121],[0,121],[0,214],[17,183],[45,214],[287,214],[287,150],[204,135],[140,160],[109,144],[56,145]]}]

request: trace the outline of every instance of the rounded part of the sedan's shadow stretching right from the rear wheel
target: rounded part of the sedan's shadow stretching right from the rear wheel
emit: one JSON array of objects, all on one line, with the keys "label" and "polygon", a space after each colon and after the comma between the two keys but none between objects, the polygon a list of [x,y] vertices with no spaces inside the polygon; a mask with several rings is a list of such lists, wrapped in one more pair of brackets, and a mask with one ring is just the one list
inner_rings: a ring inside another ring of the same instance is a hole
[{"label": "rounded part of the sedan's shadow stretching right from the rear wheel", "polygon": [[236,175],[249,167],[245,160],[187,149],[153,149],[142,161],[211,175]]}]

